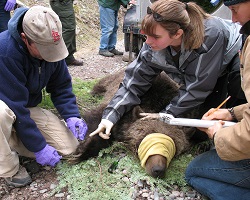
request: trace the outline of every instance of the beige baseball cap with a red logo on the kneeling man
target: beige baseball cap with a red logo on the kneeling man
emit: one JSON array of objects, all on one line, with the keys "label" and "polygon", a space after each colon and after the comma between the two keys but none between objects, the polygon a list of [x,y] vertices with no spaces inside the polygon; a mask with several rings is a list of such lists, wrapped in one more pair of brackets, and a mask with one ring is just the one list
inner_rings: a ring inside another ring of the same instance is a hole
[{"label": "beige baseball cap with a red logo on the kneeling man", "polygon": [[24,15],[23,31],[36,44],[44,60],[57,62],[68,56],[62,37],[62,23],[51,8],[31,7]]}]

